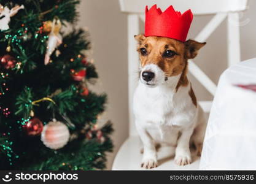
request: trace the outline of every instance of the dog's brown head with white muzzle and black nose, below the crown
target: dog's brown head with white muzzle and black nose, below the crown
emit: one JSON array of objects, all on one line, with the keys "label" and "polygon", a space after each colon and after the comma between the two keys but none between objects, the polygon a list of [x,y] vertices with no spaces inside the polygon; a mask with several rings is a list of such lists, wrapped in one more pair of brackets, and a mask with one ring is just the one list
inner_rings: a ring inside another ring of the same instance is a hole
[{"label": "dog's brown head with white muzzle and black nose, below the crown", "polygon": [[141,60],[139,79],[147,86],[154,87],[168,81],[169,77],[187,72],[187,60],[195,58],[206,43],[179,40],[143,34],[134,36],[138,40]]}]

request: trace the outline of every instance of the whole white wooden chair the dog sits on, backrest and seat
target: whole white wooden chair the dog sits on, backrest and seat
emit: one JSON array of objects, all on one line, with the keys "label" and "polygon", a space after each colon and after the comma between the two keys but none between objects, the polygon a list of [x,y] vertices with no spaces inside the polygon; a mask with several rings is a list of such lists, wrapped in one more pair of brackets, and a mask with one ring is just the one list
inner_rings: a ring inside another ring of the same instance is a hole
[{"label": "whole white wooden chair the dog sits on, backrest and seat", "polygon": [[[228,42],[228,66],[240,61],[240,44],[239,44],[239,12],[246,10],[247,0],[119,0],[120,9],[128,17],[128,105],[129,105],[129,136],[118,151],[112,169],[114,170],[138,170],[141,169],[142,155],[139,153],[141,148],[139,145],[139,137],[134,125],[134,117],[132,111],[133,92],[136,88],[136,71],[138,71],[139,59],[136,53],[136,41],[134,35],[141,33],[139,30],[139,21],[144,21],[145,5],[149,7],[157,4],[162,10],[173,5],[176,10],[185,12],[191,9],[194,15],[214,15],[209,23],[204,26],[195,40],[204,42],[214,32],[215,29],[227,17],[227,42]],[[216,85],[206,75],[200,67],[196,66],[193,61],[189,61],[188,69],[190,73],[208,90],[213,96],[215,94]],[[211,110],[212,101],[200,101],[204,112]],[[179,167],[170,159],[169,156],[173,150],[160,150],[158,159],[160,166],[158,170],[173,170],[173,169],[198,169],[200,159],[196,159],[194,163]]]}]

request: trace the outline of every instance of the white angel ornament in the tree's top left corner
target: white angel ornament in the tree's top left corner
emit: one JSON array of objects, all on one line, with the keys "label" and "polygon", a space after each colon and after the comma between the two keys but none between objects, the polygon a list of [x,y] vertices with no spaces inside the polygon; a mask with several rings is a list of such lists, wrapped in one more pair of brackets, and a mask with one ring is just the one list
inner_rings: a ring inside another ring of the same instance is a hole
[{"label": "white angel ornament in the tree's top left corner", "polygon": [[9,9],[7,6],[3,7],[0,4],[0,30],[5,31],[9,29],[9,22],[10,17],[13,17],[16,13],[18,13],[18,10],[24,9],[24,6],[15,6],[12,9]]}]

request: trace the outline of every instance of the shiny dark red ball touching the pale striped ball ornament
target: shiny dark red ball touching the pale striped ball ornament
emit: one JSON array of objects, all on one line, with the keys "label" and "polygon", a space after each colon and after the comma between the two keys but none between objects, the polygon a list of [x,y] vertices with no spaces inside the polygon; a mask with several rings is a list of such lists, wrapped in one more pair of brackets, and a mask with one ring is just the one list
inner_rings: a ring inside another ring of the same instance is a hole
[{"label": "shiny dark red ball touching the pale striped ball ornament", "polygon": [[39,118],[31,118],[26,125],[23,125],[23,129],[25,129],[26,134],[28,136],[38,136],[41,134],[42,130],[44,128],[44,125],[42,124],[42,121],[39,120]]}]

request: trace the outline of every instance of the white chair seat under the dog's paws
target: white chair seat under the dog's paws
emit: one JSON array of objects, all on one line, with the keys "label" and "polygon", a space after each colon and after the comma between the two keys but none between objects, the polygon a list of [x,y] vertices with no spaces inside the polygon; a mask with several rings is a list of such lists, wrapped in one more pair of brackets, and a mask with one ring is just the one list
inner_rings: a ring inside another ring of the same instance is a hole
[{"label": "white chair seat under the dog's paws", "polygon": [[[112,170],[145,170],[141,168],[142,143],[139,137],[131,136],[126,139],[115,156]],[[171,147],[161,147],[158,150],[158,167],[150,170],[196,170],[199,168],[200,158],[192,152],[193,163],[186,166],[177,166],[174,163],[174,150]]]}]

